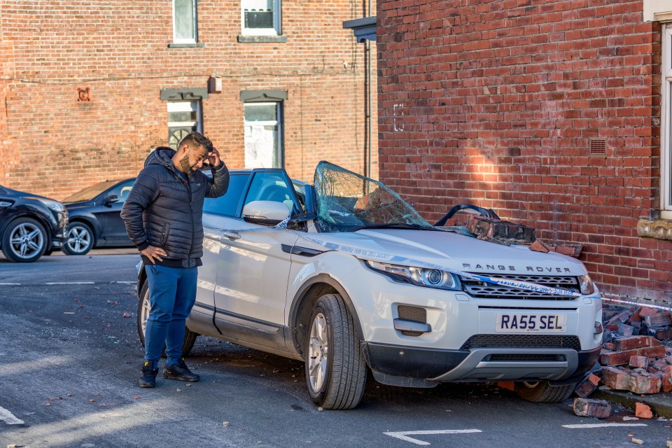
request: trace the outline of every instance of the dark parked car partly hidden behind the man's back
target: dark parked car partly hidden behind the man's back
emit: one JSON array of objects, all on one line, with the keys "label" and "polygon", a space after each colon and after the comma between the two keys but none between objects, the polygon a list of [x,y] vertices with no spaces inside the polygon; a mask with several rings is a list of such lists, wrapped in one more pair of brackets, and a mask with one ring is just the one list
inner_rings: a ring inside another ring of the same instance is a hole
[{"label": "dark parked car partly hidden behind the man's back", "polygon": [[105,181],[63,200],[70,214],[63,252],[84,255],[94,247],[133,246],[119,214],[135,178]]}]

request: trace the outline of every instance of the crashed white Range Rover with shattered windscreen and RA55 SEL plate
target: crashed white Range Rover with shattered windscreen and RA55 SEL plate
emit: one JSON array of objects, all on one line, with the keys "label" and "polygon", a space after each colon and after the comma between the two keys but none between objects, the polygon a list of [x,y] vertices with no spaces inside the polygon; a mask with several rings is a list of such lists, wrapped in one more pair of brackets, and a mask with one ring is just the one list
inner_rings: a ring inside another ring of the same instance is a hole
[{"label": "crashed white Range Rover with shattered windscreen and RA55 SEL plate", "polygon": [[[367,369],[407,387],[516,381],[522,398],[557,402],[596,363],[601,296],[580,261],[435,227],[328,162],[313,186],[283,169],[230,179],[204,202],[184,353],[208,335],[304,360],[325,409],[356,407]],[[144,341],[144,269],[138,292]]]}]

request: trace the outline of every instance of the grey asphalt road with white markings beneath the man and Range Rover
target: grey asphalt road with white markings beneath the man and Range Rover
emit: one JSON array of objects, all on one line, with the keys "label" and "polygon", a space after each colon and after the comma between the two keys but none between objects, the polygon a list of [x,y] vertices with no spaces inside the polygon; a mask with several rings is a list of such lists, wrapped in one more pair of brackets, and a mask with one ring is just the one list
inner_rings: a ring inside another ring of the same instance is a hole
[{"label": "grey asphalt road with white markings beneath the man and Range Rover", "polygon": [[0,258],[2,448],[632,447],[632,437],[665,447],[672,440],[670,421],[624,421],[633,415],[627,409],[607,421],[582,418],[572,400],[529,403],[482,384],[409,389],[370,379],[357,409],[321,411],[307,395],[302,363],[206,337],[187,359],[202,381],[159,376],[156,388],[141,389],[139,257],[95,253],[32,264]]}]

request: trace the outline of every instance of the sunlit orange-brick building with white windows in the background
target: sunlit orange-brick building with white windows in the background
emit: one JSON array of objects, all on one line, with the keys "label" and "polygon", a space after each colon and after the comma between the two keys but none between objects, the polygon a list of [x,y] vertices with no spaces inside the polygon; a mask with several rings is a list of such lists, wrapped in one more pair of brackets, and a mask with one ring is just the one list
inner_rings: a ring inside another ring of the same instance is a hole
[{"label": "sunlit orange-brick building with white windows in the background", "polygon": [[193,129],[230,167],[363,172],[363,45],[342,28],[362,15],[354,0],[4,0],[0,184],[62,199]]}]

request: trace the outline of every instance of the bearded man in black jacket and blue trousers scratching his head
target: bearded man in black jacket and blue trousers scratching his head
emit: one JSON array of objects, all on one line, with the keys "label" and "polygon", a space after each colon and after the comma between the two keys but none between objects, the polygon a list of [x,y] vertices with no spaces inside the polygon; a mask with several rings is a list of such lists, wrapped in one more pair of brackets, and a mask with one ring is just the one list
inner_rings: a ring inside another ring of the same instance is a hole
[{"label": "bearded man in black jacket and blue trousers scratching his head", "polygon": [[[199,171],[208,160],[212,179]],[[163,377],[198,381],[182,358],[185,321],[196,301],[197,267],[203,255],[203,200],[229,186],[229,171],[212,143],[198,132],[177,151],[156,148],[145,160],[121,211],[147,273],[150,312],[140,387],[154,387],[166,346]]]}]

